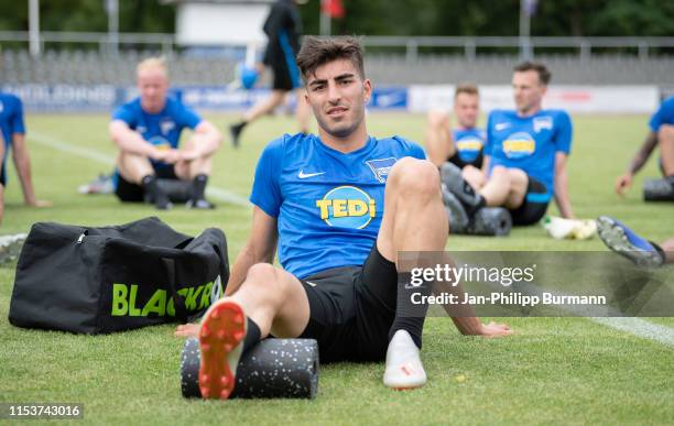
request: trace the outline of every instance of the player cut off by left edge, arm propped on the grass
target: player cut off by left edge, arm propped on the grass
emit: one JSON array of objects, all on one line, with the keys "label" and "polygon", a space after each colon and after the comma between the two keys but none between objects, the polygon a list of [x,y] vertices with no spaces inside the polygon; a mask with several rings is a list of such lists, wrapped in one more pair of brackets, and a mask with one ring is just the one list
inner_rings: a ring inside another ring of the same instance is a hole
[{"label": "player cut off by left edge, arm propped on the grass", "polygon": [[0,129],[2,130],[2,140],[4,141],[2,146],[2,170],[0,171],[0,190],[3,192],[7,185],[7,156],[11,151],[17,175],[21,182],[25,205],[50,207],[52,203],[35,198],[31,175],[31,157],[25,143],[23,106],[21,105],[21,99],[14,95],[0,92]]}]

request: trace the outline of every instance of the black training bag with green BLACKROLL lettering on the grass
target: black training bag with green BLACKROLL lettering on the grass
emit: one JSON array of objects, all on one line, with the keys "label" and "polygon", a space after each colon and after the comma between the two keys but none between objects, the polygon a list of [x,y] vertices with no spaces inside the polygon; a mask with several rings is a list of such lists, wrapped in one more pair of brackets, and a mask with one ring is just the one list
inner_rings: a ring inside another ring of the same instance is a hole
[{"label": "black training bag with green BLACKROLL lettering on the grass", "polygon": [[9,320],[91,335],[186,323],[228,280],[216,228],[192,238],[155,217],[100,228],[37,222],[19,258]]}]

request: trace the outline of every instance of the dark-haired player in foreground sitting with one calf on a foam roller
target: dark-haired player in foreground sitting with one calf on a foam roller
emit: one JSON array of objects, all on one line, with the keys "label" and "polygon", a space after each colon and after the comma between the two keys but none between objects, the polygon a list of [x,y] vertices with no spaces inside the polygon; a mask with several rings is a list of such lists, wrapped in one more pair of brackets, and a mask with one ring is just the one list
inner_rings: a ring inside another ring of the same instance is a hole
[{"label": "dark-haired player in foreground sitting with one calf on a foam roller", "polygon": [[[426,307],[410,306],[415,287],[399,286],[396,254],[445,248],[437,167],[412,142],[368,135],[372,86],[357,40],[306,37],[297,63],[318,135],[286,134],[264,149],[250,197],[251,234],[227,296],[200,326],[176,331],[199,337],[204,397],[229,396],[240,354],[268,336],[316,339],[322,362],[385,358],[390,387],[426,382]],[[272,266],[276,249],[283,267]],[[477,318],[455,323],[465,334],[511,332]]]}]

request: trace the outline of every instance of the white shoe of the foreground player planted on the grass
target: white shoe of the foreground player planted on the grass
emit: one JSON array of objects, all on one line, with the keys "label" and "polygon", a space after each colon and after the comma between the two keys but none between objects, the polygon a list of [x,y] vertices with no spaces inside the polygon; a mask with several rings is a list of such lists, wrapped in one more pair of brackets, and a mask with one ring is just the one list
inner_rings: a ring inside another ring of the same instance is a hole
[{"label": "white shoe of the foreground player planted on the grass", "polygon": [[421,362],[418,348],[405,330],[398,330],[387,350],[384,386],[399,391],[421,387],[426,384],[426,372]]}]

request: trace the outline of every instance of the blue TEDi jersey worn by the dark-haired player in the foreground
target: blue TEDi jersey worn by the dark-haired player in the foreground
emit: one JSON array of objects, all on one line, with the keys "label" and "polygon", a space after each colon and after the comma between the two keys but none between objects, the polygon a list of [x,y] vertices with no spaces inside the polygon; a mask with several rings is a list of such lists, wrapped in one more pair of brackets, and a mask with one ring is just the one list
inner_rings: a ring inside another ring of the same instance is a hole
[{"label": "blue TEDi jersey worn by the dark-haired player in the foreground", "polygon": [[278,219],[281,265],[303,278],[363,264],[381,225],[387,177],[404,156],[425,159],[421,146],[398,136],[369,138],[348,154],[314,134],[270,142],[250,200]]}]

